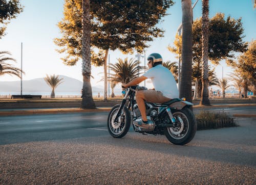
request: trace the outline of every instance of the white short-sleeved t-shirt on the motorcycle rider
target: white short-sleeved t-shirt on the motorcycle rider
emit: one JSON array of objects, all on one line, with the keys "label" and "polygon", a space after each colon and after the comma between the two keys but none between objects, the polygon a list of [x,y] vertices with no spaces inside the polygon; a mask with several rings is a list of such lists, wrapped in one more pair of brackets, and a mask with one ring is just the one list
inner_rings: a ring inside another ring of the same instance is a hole
[{"label": "white short-sleeved t-shirt on the motorcycle rider", "polygon": [[164,66],[157,65],[148,69],[143,76],[150,78],[156,91],[167,98],[179,98],[179,91],[173,74]]}]

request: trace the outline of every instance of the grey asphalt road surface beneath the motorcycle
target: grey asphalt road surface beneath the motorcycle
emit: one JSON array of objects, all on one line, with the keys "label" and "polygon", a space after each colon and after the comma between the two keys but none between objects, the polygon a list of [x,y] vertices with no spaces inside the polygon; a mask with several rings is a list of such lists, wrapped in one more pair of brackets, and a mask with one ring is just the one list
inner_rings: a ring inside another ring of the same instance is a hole
[{"label": "grey asphalt road surface beneath the motorcycle", "polygon": [[106,117],[0,117],[0,184],[256,184],[256,118],[197,131],[189,144],[176,146],[132,130],[114,139]]}]

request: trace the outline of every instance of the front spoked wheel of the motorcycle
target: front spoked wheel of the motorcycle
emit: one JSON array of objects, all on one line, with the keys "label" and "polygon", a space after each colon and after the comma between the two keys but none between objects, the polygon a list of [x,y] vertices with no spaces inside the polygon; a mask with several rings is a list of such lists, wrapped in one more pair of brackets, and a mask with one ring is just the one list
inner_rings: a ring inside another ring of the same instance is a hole
[{"label": "front spoked wheel of the motorcycle", "polygon": [[130,112],[126,107],[123,108],[121,115],[118,117],[117,121],[115,121],[119,107],[120,105],[115,105],[108,116],[108,130],[110,135],[114,138],[124,137],[131,125]]}]

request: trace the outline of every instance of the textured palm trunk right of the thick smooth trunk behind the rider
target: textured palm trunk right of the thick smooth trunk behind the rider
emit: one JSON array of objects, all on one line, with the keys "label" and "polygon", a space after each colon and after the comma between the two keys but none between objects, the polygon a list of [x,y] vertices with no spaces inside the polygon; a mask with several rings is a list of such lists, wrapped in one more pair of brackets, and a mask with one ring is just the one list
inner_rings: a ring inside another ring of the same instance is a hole
[{"label": "textured palm trunk right of the thick smooth trunk behind the rider", "polygon": [[209,40],[209,0],[202,0],[202,92],[200,105],[210,105],[209,101],[209,74],[208,74],[208,40]]}]

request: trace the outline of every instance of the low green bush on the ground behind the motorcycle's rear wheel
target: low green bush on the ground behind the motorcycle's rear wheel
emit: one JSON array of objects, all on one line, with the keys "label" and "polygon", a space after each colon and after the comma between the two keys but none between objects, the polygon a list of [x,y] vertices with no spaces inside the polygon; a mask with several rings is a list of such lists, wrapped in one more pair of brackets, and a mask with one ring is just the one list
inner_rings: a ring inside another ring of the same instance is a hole
[{"label": "low green bush on the ground behind the motorcycle's rear wheel", "polygon": [[196,115],[196,119],[198,130],[239,126],[234,122],[234,119],[230,118],[225,112],[213,113],[201,111]]}]

